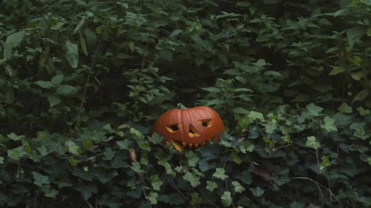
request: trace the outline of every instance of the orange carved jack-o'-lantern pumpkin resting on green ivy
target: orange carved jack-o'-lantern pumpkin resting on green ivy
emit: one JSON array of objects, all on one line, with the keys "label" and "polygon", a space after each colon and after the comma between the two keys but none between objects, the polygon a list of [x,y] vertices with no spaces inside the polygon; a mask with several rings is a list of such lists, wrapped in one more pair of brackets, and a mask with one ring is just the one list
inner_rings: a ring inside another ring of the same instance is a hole
[{"label": "orange carved jack-o'-lantern pumpkin resting on green ivy", "polygon": [[212,108],[198,106],[167,111],[157,118],[153,132],[164,137],[162,143],[171,142],[182,153],[187,145],[197,148],[210,140],[220,141],[217,132],[224,132],[224,124]]}]

